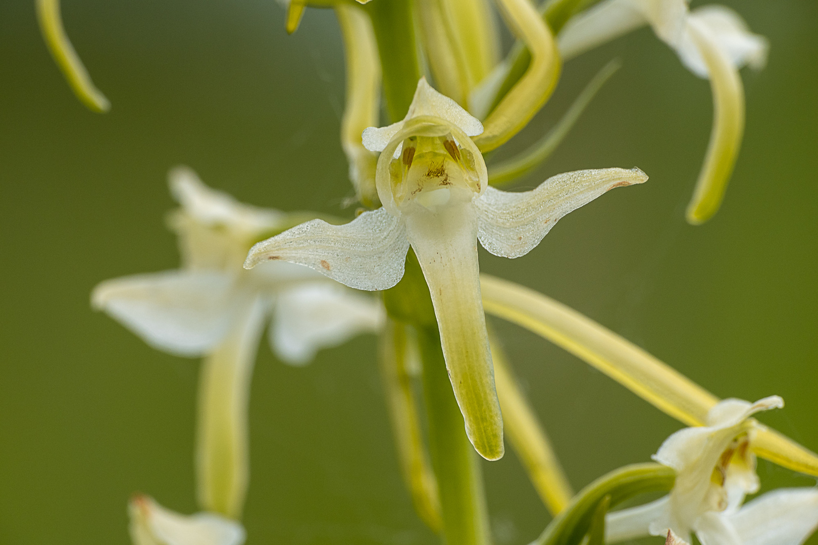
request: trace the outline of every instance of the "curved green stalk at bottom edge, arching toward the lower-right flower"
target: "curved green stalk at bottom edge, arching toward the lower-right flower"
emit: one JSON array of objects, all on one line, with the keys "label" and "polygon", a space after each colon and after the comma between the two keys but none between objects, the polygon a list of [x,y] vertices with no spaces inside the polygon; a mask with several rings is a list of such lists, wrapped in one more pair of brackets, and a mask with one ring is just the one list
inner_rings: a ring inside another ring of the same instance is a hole
[{"label": "curved green stalk at bottom edge, arching toward the lower-right flower", "polygon": [[532,545],[580,543],[586,534],[590,535],[591,543],[595,540],[599,543],[600,534],[605,534],[602,521],[609,507],[638,494],[666,492],[675,481],[676,471],[653,462],[613,470],[582,489]]}]

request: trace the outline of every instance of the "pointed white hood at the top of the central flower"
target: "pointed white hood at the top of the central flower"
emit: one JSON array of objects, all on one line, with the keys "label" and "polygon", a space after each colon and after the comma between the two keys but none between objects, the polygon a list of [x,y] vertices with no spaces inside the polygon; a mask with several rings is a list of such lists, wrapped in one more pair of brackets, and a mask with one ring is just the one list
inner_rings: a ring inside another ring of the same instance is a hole
[{"label": "pointed white hood at the top of the central flower", "polygon": [[483,123],[469,112],[465,111],[448,96],[435,91],[426,78],[420,78],[415,90],[415,97],[411,101],[407,116],[398,123],[388,127],[368,127],[363,132],[363,145],[370,151],[383,151],[392,137],[401,130],[407,119],[418,115],[432,115],[441,118],[461,129],[468,136],[477,136],[483,132]]}]

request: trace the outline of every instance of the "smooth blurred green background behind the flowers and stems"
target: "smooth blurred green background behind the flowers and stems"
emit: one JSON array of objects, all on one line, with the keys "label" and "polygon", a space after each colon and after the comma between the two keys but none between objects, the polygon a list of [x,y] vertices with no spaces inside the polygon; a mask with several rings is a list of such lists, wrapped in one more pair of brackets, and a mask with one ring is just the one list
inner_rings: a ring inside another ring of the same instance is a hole
[{"label": "smooth blurred green background behind the flowers and stems", "polygon": [[[520,187],[635,165],[649,182],[569,215],[528,256],[483,252],[481,266],[717,395],[782,395],[786,409],[762,420],[818,449],[818,3],[730,4],[772,47],[765,70],[744,73],[747,131],[721,212],[700,227],[683,219],[710,132],[708,83],[643,29],[566,65],[510,149],[619,56],[622,70]],[[0,3],[0,542],[124,544],[136,491],[196,510],[199,365],[151,350],[92,312],[88,294],[177,266],[163,218],[179,163],[245,202],[351,217],[343,51],[331,11],[308,10],[287,36],[272,0],[65,0],[63,13],[110,114],[70,94],[33,2]],[[573,356],[497,328],[577,488],[647,460],[680,427]],[[250,544],[435,543],[398,476],[374,356],[374,337],[305,369],[259,350]],[[548,516],[514,453],[484,467],[497,545],[528,543]],[[766,486],[815,484],[768,462],[759,471]]]}]

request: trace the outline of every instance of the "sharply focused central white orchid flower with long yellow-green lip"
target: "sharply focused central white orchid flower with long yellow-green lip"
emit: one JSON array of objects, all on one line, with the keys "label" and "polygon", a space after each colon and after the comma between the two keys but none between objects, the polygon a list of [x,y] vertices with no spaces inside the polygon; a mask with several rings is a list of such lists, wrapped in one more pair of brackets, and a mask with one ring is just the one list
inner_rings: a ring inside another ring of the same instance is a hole
[{"label": "sharply focused central white orchid flower with long yellow-green lip", "polygon": [[256,244],[246,268],[265,261],[311,266],[353,288],[398,284],[411,245],[434,303],[441,345],[465,429],[484,458],[503,455],[477,241],[497,256],[530,252],[568,212],[620,185],[647,179],[639,169],[608,168],[554,176],[537,189],[507,193],[488,186],[472,136],[482,124],[424,78],[402,121],[370,127],[368,150],[380,152],[375,183],[383,208],[344,226],[309,221]]}]

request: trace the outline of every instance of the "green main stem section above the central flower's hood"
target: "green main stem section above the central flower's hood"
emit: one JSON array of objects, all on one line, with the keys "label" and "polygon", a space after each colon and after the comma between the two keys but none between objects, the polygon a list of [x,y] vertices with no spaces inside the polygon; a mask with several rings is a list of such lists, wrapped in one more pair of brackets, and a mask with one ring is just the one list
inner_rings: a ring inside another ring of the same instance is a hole
[{"label": "green main stem section above the central flower's hood", "polygon": [[390,121],[395,122],[406,115],[420,79],[414,3],[412,0],[378,0],[366,4],[366,11],[378,41],[386,109]]}]

